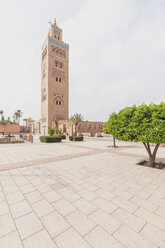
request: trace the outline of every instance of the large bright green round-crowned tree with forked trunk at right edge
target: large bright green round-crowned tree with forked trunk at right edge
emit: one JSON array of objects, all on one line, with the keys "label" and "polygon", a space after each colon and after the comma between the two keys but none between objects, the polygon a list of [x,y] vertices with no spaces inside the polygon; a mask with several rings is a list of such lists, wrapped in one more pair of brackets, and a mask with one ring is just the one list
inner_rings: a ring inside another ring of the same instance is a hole
[{"label": "large bright green round-crowned tree with forked trunk at right edge", "polygon": [[[165,103],[124,108],[110,115],[106,127],[118,140],[141,141],[149,156],[148,164],[154,167],[158,148],[165,143]],[[151,143],[155,144],[153,151]]]}]

